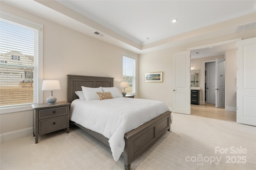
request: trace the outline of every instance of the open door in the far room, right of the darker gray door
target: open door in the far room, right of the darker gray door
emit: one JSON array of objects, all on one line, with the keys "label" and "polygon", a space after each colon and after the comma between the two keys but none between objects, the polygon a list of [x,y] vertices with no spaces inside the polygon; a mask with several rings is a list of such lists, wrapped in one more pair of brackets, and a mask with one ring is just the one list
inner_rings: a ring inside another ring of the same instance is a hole
[{"label": "open door in the far room, right of the darker gray door", "polygon": [[216,105],[225,107],[225,60],[216,59]]}]

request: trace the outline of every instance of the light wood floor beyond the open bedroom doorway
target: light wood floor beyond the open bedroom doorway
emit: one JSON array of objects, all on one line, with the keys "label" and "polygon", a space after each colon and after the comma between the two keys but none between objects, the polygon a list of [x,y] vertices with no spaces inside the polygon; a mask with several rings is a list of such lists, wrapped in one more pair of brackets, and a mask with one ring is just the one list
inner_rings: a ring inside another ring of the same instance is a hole
[{"label": "light wood floor beyond the open bedroom doorway", "polygon": [[236,111],[227,111],[225,107],[216,108],[214,104],[192,104],[191,115],[236,122]]}]

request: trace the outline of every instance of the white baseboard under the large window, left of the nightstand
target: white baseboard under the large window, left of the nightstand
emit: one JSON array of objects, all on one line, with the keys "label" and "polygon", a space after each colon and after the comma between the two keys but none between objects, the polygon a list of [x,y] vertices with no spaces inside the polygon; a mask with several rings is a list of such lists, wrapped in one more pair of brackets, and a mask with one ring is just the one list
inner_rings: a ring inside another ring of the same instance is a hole
[{"label": "white baseboard under the large window, left of the nightstand", "polygon": [[18,131],[3,133],[3,134],[0,134],[0,143],[13,141],[16,139],[20,139],[22,137],[28,137],[30,135],[33,135],[33,127],[29,127],[26,129],[20,129]]}]

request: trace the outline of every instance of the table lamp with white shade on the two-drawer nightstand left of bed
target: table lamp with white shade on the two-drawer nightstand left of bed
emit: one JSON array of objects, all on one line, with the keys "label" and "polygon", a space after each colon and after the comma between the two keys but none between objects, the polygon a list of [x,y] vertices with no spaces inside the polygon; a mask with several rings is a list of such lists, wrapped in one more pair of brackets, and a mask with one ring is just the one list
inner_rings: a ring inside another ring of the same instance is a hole
[{"label": "table lamp with white shade on the two-drawer nightstand left of bed", "polygon": [[44,80],[42,85],[42,90],[51,90],[50,97],[46,99],[48,104],[55,104],[56,97],[53,96],[53,90],[60,89],[60,81],[59,80]]}]

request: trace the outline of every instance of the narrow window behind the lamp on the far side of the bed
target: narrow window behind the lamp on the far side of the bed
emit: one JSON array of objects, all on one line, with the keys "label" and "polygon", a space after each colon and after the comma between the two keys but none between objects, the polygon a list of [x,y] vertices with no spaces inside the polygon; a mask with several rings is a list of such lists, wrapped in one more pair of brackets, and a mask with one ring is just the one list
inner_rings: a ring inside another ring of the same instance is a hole
[{"label": "narrow window behind the lamp on the far side of the bed", "polygon": [[136,58],[123,55],[123,81],[128,82],[127,94],[135,94],[136,84]]}]

